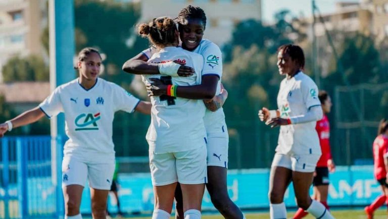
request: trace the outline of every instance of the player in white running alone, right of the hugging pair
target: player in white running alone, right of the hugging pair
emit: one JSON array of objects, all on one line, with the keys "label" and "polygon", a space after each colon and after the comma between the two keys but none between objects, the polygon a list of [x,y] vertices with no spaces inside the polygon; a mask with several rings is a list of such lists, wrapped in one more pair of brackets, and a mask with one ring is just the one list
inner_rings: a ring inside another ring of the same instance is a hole
[{"label": "player in white running alone, right of the hugging pair", "polygon": [[285,78],[277,95],[277,110],[263,107],[261,121],[271,127],[280,126],[278,145],[270,174],[270,217],[286,218],[284,193],[293,181],[298,206],[316,218],[333,218],[325,206],[312,200],[309,188],[316,163],[321,155],[316,121],[322,118],[318,88],[302,72],[305,66],[303,50],[298,45],[282,45],[278,49],[277,67]]}]

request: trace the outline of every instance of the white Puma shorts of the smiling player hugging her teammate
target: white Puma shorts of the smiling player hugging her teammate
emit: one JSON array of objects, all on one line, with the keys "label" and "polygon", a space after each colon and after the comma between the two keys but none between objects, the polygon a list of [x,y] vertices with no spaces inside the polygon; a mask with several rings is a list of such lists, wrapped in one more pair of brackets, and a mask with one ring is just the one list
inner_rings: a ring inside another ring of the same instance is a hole
[{"label": "white Puma shorts of the smiling player hugging her teammate", "polygon": [[229,137],[208,137],[206,140],[208,166],[228,168]]}]

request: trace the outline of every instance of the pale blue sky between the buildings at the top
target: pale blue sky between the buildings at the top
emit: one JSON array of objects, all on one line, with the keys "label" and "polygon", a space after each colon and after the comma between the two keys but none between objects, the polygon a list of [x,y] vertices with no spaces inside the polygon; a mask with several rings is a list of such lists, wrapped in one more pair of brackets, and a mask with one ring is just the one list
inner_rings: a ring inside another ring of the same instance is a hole
[{"label": "pale blue sky between the buildings at the top", "polygon": [[[316,0],[321,13],[333,12],[336,2],[359,2],[359,0]],[[262,0],[263,20],[271,22],[273,15],[281,9],[288,9],[292,14],[299,17],[303,14],[305,17],[311,16],[311,0]]]}]

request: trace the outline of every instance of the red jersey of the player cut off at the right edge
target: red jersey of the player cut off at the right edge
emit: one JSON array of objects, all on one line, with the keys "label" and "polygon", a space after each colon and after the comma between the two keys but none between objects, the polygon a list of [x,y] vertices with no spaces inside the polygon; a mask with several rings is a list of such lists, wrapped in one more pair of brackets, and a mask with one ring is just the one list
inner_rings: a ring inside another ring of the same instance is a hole
[{"label": "red jersey of the player cut off at the right edge", "polygon": [[374,177],[380,180],[386,177],[384,157],[388,155],[388,137],[379,135],[373,142]]}]

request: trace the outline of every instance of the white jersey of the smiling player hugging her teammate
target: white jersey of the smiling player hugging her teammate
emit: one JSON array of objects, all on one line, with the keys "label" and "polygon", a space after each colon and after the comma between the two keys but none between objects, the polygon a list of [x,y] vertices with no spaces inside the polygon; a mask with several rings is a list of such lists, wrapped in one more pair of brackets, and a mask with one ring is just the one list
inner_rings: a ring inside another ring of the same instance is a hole
[{"label": "white jersey of the smiling player hugging her teammate", "polygon": [[[155,48],[148,48],[143,50],[142,53],[148,58],[155,52]],[[201,75],[216,75],[219,77],[217,84],[216,95],[221,92],[221,77],[222,77],[222,53],[218,45],[208,39],[201,40],[198,47],[193,52],[201,54],[204,59],[204,68]],[[226,127],[222,126],[225,124],[225,114],[223,108],[219,108],[216,112],[211,112],[206,109],[204,117],[205,128],[208,137],[220,137],[227,136]]]}]

